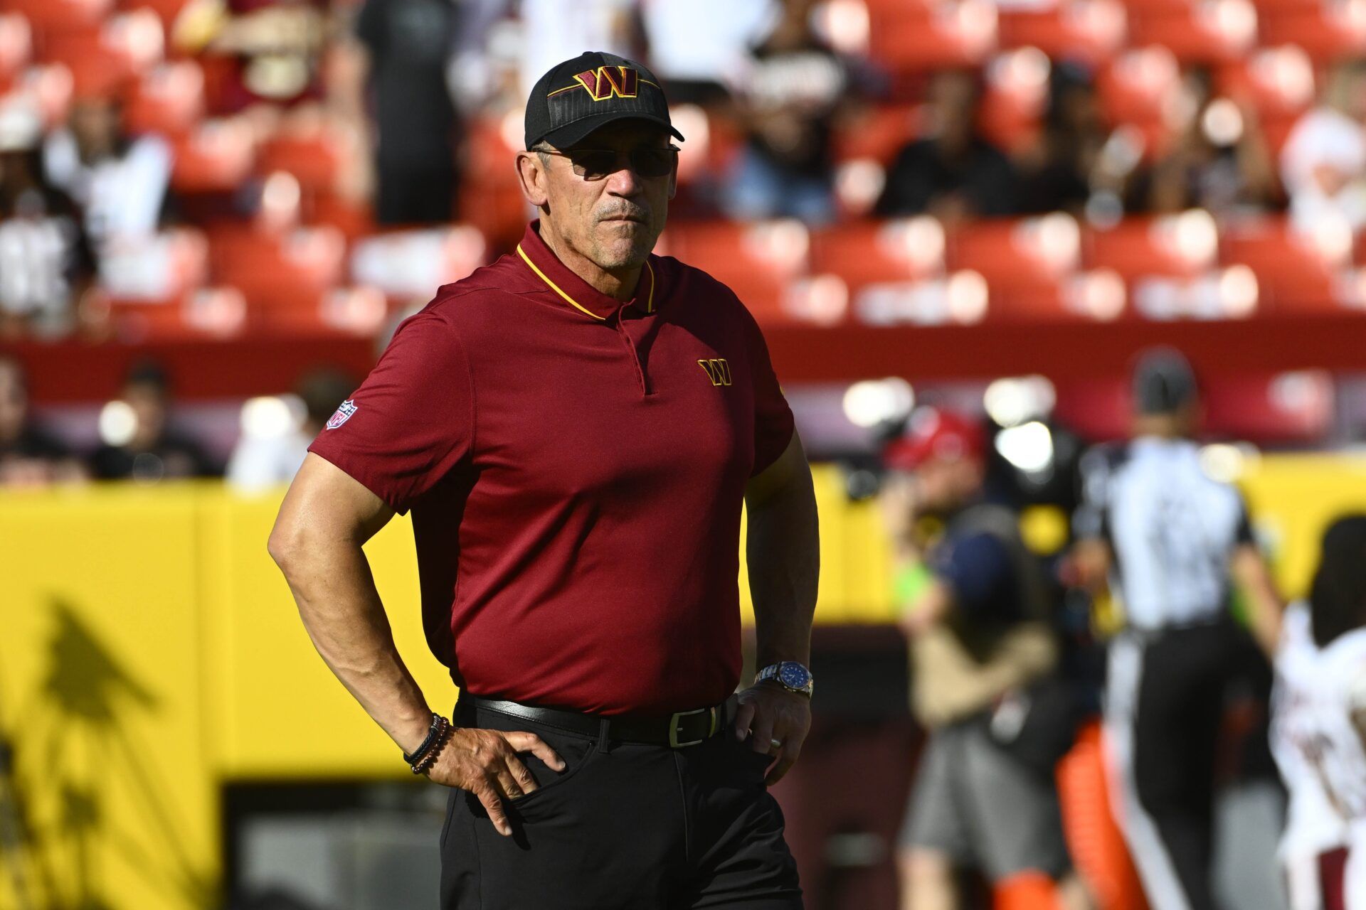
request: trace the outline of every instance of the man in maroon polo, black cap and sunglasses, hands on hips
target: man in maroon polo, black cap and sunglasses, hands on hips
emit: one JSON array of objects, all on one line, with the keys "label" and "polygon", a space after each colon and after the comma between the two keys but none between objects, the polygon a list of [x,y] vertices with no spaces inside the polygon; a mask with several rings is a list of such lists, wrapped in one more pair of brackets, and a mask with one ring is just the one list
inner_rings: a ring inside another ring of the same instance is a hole
[{"label": "man in maroon polo, black cap and sunglasses, hands on hips", "polygon": [[[765,784],[810,726],[816,502],[754,319],[650,254],[671,134],[637,63],[541,78],[516,156],[540,220],[399,327],[270,535],[324,660],[454,787],[447,909],[802,906]],[[742,503],[761,671],[735,694]],[[361,548],[410,509],[451,722]]]}]

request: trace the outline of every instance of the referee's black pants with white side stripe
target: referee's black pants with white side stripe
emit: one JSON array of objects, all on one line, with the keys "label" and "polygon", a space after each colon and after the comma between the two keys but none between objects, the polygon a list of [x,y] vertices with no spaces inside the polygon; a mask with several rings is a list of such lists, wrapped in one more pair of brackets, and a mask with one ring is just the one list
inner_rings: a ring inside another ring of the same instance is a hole
[{"label": "referee's black pants with white side stripe", "polygon": [[1153,910],[1213,910],[1214,750],[1244,634],[1232,622],[1111,644],[1106,738]]}]

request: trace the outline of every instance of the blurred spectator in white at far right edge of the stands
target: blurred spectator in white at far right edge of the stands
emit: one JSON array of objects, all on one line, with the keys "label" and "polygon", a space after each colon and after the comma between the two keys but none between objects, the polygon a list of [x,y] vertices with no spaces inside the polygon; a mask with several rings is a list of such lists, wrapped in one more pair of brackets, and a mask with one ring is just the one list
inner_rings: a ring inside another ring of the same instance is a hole
[{"label": "blurred spectator in white at far right edge of the stands", "polygon": [[1366,226],[1366,60],[1337,64],[1320,106],[1285,141],[1280,168],[1298,226]]}]

